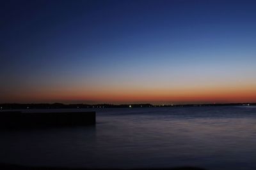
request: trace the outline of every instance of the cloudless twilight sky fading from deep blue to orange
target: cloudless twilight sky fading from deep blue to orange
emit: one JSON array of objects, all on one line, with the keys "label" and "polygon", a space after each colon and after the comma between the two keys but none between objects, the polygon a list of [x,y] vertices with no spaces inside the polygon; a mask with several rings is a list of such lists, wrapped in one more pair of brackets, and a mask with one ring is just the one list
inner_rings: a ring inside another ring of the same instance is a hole
[{"label": "cloudless twilight sky fading from deep blue to orange", "polygon": [[255,1],[3,1],[0,103],[255,103]]}]

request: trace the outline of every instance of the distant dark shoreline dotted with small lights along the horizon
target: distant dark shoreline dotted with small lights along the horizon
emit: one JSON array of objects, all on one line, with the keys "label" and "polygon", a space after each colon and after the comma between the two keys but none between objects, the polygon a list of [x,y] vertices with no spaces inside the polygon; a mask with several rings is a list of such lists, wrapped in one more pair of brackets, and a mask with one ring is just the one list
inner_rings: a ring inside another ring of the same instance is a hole
[{"label": "distant dark shoreline dotted with small lights along the horizon", "polygon": [[152,108],[152,107],[192,107],[192,106],[256,106],[256,103],[225,103],[225,104],[0,104],[0,110],[23,110],[23,109],[74,109],[74,108]]}]

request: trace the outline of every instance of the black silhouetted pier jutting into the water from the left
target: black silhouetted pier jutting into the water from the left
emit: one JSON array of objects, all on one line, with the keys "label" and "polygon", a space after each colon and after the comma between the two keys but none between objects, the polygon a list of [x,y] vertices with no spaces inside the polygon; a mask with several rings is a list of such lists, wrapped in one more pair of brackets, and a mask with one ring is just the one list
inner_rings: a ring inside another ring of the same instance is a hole
[{"label": "black silhouetted pier jutting into the water from the left", "polygon": [[62,127],[95,125],[96,113],[91,112],[56,112],[22,113],[20,111],[0,112],[0,127]]}]

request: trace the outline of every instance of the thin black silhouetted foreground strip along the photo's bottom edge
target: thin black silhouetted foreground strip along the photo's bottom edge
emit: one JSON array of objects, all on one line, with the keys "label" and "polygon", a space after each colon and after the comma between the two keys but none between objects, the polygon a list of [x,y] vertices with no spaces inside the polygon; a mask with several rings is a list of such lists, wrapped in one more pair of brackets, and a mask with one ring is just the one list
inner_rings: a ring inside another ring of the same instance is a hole
[{"label": "thin black silhouetted foreground strip along the photo's bottom edge", "polygon": [[[18,166],[13,164],[0,164],[0,169],[3,170],[108,170],[108,169],[88,169],[88,168],[65,168],[65,167],[33,167],[33,166]],[[158,168],[147,168],[147,170],[155,170]],[[173,167],[173,168],[159,168],[162,170],[204,170],[199,167]],[[122,170],[122,169],[114,169]],[[129,170],[129,169],[126,169]],[[130,170],[146,170],[146,169],[130,169]]]}]

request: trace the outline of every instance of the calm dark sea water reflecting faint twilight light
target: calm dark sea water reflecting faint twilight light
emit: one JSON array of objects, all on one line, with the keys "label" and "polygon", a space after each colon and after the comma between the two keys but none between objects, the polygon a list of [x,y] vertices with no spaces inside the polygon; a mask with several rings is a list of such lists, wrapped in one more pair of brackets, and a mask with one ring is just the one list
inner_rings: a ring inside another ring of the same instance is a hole
[{"label": "calm dark sea water reflecting faint twilight light", "polygon": [[96,111],[97,123],[0,131],[0,162],[96,169],[256,169],[256,106],[36,111]]}]

